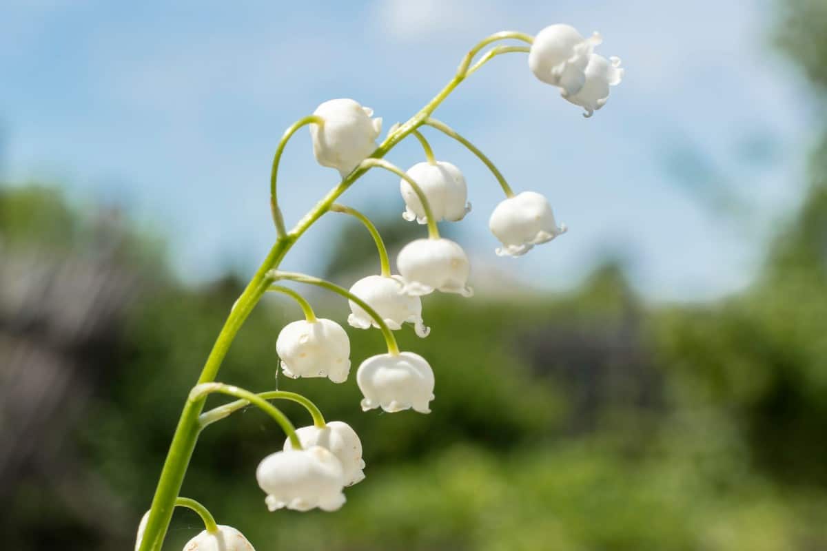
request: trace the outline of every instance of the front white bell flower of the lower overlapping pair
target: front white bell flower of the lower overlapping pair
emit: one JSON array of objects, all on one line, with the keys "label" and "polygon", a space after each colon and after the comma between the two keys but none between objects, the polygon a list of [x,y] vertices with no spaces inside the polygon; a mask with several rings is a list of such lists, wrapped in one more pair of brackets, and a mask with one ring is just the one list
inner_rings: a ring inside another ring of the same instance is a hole
[{"label": "front white bell flower of the lower overlapping pair", "polygon": [[336,511],[345,503],[342,462],[322,446],[268,455],[256,469],[256,480],[270,511]]}]

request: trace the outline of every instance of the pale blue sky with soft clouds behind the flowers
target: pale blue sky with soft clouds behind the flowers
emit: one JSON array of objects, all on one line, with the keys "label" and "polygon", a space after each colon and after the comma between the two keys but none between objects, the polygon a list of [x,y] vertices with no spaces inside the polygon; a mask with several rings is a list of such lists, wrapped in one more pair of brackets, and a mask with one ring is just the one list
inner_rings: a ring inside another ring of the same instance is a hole
[{"label": "pale blue sky with soft clouds behind the flowers", "polygon": [[[168,236],[190,280],[249,270],[273,239],[269,165],[292,121],[353,97],[387,128],[442,88],[483,36],[568,22],[600,31],[600,53],[624,60],[624,83],[594,117],[533,78],[524,55],[495,59],[436,115],[512,187],[545,193],[569,233],[521,259],[495,257],[487,220],[499,187],[432,134],[437,157],[469,183],[462,244],[478,273],[519,273],[538,287],[571,287],[614,254],[649,297],[715,297],[748,284],[805,186],[811,112],[768,45],[771,16],[767,2],[719,0],[7,0],[4,176],[126,205]],[[406,167],[421,155],[411,140],[389,159]],[[280,173],[288,222],[335,183],[299,132]],[[397,178],[371,174],[343,202],[401,213],[398,190]],[[342,223],[314,226],[286,266],[318,269]]]}]

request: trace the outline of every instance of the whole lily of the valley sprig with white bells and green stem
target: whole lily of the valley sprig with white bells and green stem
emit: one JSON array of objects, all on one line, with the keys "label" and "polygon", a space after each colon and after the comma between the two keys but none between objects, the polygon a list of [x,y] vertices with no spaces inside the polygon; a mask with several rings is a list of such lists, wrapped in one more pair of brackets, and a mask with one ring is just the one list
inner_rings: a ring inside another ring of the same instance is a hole
[{"label": "whole lily of the valley sprig with white bells and green stem", "polygon": [[[504,40],[516,41],[519,45],[493,45]],[[454,241],[440,237],[437,227],[438,221],[460,221],[471,210],[471,203],[467,200],[466,179],[460,169],[445,160],[437,160],[420,129],[427,126],[452,137],[490,169],[505,194],[489,221],[490,230],[502,244],[496,253],[525,254],[534,245],[564,233],[566,226],[557,224],[552,207],[543,194],[536,191],[515,193],[485,154],[450,126],[433,118],[433,112],[463,80],[490,59],[522,52],[528,54],[528,66],[537,78],[559,88],[564,99],[582,107],[585,115],[591,116],[604,106],[609,87],[618,84],[624,72],[619,67],[619,59],[606,59],[595,53],[600,42],[597,33],[583,37],[567,25],[548,26],[537,36],[512,31],[488,36],[471,48],[445,88],[408,121],[392,126],[379,145],[376,140],[382,130],[382,119],[374,117],[372,110],[352,99],[324,102],[312,115],[299,119],[284,132],[276,147],[270,174],[275,244],[232,306],[198,382],[184,403],[151,508],[141,520],[136,551],[160,551],[175,506],[197,512],[205,528],[185,549],[253,549],[237,529],[216,524],[206,507],[179,495],[201,431],[246,406],[260,408],[286,435],[283,449],[274,449],[256,469],[256,480],[265,493],[263,505],[270,511],[284,508],[336,511],[346,501],[346,487],[365,478],[361,441],[347,423],[325,420],[312,401],[294,392],[256,393],[217,381],[227,349],[247,316],[265,293],[281,292],[294,298],[304,312],[303,320],[286,325],[276,339],[282,373],[289,378],[319,378],[319,386],[347,382],[351,371],[347,331],[336,321],[317,318],[312,306],[299,292],[281,283],[303,283],[335,292],[349,302],[349,325],[381,331],[387,352],[366,359],[356,370],[356,383],[364,394],[361,401],[364,411],[378,408],[387,412],[431,411],[435,383],[433,369],[419,354],[400,351],[393,331],[411,324],[417,335],[426,337],[429,329],[423,321],[423,297],[437,291],[464,297],[473,294],[468,285],[471,267],[465,251]],[[488,45],[492,45],[490,50],[480,55]],[[284,146],[303,126],[309,128],[313,155],[318,163],[336,169],[341,179],[292,230],[287,230],[276,193],[277,175]],[[403,170],[385,160],[395,145],[412,135],[423,146],[423,162]],[[339,197],[371,169],[384,169],[400,178],[404,220],[427,226],[427,236],[412,241],[399,252],[396,260],[399,273],[391,272],[385,245],[370,220],[356,209],[337,203]],[[279,270],[289,249],[328,212],[347,214],[361,221],[379,251],[380,273],[362,278],[350,290],[302,273]],[[236,400],[203,411],[210,394],[223,394]],[[299,402],[312,417],[313,425],[295,429],[273,400]]]}]

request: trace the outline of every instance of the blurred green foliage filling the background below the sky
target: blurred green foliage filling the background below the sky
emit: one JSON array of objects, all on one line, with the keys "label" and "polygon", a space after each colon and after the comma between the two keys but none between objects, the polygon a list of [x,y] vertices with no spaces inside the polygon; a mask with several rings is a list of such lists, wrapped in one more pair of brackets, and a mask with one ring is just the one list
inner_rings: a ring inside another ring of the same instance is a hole
[{"label": "blurred green foliage filling the background below the sky", "polygon": [[[778,43],[824,85],[825,3],[791,0],[781,15]],[[649,305],[607,265],[566,296],[428,297],[432,335],[419,340],[406,329],[400,344],[433,364],[429,416],[362,413],[352,377],[342,385],[274,381],[275,336],[299,311],[267,297],[221,379],[304,392],[328,419],[346,420],[365,446],[366,481],[347,490],[335,514],[268,513],[254,471],[284,436],[248,408],[205,431],[184,495],[260,550],[827,549],[825,159],[822,145],[801,212],[739,296]],[[0,213],[6,240],[36,234],[60,243],[83,226],[45,189],[2,192]],[[354,254],[370,255],[359,230],[344,232],[342,243],[351,252],[363,243]],[[141,243],[126,249],[146,249]],[[124,262],[149,264],[154,276],[74,439],[122,500],[126,512],[112,521],[123,526],[118,549],[131,549],[179,408],[241,282],[182,287],[164,275],[159,255]],[[328,275],[351,268],[334,257]],[[346,304],[319,300],[321,316],[346,318]],[[354,367],[381,351],[378,332],[349,332]],[[38,531],[72,534],[56,500],[50,487],[22,482],[0,521],[8,549],[45,549],[32,543]],[[197,530],[193,515],[176,514],[167,549]],[[92,535],[61,543],[103,549]]]}]

